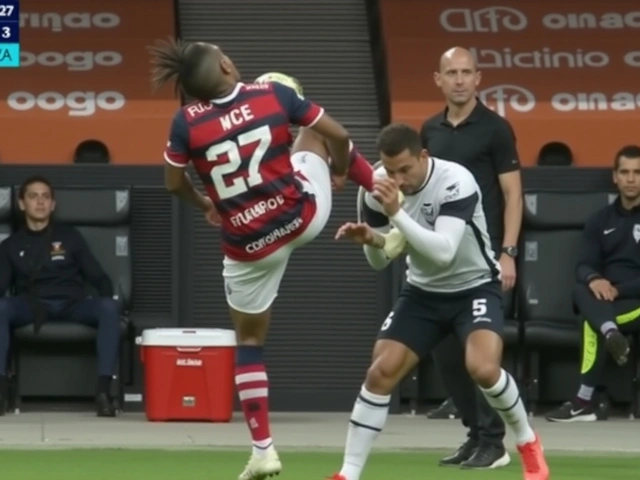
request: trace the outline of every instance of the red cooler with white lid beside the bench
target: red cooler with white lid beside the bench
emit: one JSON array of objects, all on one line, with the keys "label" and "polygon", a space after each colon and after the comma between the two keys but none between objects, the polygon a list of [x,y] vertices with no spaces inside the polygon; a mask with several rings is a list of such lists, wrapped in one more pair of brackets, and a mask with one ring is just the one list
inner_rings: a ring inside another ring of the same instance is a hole
[{"label": "red cooler with white lid beside the bench", "polygon": [[228,422],[233,414],[233,330],[153,328],[136,339],[147,419]]}]

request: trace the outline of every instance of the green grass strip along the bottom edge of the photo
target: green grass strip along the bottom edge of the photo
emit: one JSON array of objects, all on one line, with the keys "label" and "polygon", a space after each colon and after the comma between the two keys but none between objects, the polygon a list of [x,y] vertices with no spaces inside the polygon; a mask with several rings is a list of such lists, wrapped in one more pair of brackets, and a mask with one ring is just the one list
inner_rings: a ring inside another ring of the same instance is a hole
[{"label": "green grass strip along the bottom edge of the photo", "polygon": [[[339,468],[338,453],[281,452],[277,480],[323,480]],[[521,479],[520,464],[494,471],[437,466],[436,453],[375,452],[361,480]],[[7,480],[235,480],[247,461],[237,451],[0,450]],[[552,480],[638,480],[637,456],[550,456]]]}]

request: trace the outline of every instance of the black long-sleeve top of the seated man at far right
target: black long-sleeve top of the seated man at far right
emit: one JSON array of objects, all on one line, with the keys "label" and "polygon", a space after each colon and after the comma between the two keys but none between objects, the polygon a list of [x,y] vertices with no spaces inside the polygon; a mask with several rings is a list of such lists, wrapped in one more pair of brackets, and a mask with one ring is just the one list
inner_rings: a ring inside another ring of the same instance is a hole
[{"label": "black long-sleeve top of the seated man at far right", "polygon": [[584,284],[606,278],[620,298],[640,298],[640,207],[627,210],[618,199],[589,219],[576,276]]}]

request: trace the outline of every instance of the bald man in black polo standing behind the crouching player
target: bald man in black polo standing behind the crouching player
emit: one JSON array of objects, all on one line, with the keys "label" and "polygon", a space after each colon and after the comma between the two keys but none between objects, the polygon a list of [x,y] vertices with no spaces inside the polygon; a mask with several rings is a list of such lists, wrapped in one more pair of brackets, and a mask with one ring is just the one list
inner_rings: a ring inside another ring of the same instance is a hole
[{"label": "bald man in black polo standing behind the crouching player", "polygon": [[[430,155],[458,162],[475,176],[482,190],[491,244],[502,267],[503,290],[509,291],[516,280],[516,246],[522,223],[520,162],[509,122],[476,97],[480,78],[468,50],[456,47],[442,55],[435,82],[444,93],[446,108],[424,122],[422,143]],[[462,414],[462,423],[469,428],[467,441],[440,464],[463,468],[508,465],[504,423],[469,377],[462,344],[454,335],[449,336],[434,351],[434,360]]]}]

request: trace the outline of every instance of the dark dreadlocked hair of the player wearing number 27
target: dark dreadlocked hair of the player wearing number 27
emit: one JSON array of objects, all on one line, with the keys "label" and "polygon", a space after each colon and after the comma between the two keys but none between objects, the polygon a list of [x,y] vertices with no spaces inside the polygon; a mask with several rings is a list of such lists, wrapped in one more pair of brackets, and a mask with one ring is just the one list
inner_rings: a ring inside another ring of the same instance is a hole
[{"label": "dark dreadlocked hair of the player wearing number 27", "polygon": [[206,45],[169,38],[156,41],[148,50],[153,65],[151,83],[154,88],[174,81],[176,95],[183,92],[202,101],[208,101],[219,93],[209,62],[211,50]]}]

